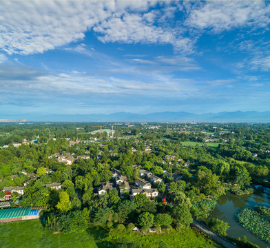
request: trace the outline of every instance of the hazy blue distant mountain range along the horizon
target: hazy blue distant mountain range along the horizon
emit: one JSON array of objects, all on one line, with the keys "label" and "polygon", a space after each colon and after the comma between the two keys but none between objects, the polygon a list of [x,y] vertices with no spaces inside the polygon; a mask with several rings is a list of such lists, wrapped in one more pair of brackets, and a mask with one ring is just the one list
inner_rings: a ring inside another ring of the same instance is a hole
[{"label": "hazy blue distant mountain range along the horizon", "polygon": [[[27,116],[25,116],[27,117]],[[114,114],[50,114],[35,116],[29,121],[129,121],[129,122],[270,122],[270,111],[236,111],[207,114],[191,114],[187,112],[160,112],[152,114],[134,114],[118,112]]]}]

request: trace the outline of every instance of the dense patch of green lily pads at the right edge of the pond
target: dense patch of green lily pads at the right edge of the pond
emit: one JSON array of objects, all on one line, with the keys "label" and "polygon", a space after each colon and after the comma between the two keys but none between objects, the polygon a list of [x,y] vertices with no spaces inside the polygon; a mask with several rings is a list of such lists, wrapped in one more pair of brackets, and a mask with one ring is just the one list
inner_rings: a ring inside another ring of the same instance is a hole
[{"label": "dense patch of green lily pads at the right edge of the pond", "polygon": [[247,207],[237,216],[238,222],[251,233],[270,243],[270,209]]}]

